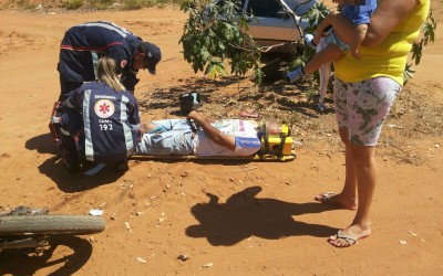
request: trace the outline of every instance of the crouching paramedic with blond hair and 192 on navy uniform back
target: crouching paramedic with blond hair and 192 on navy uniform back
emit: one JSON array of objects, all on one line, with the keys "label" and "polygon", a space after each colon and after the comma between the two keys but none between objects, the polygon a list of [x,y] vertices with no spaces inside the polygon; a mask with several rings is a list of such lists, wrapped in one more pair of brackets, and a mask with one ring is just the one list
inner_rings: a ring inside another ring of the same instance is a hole
[{"label": "crouching paramedic with blond hair and 192 on navy uniform back", "polygon": [[[141,139],[140,112],[134,95],[119,79],[115,60],[99,60],[99,81],[74,89],[62,115],[64,164],[80,170],[80,158],[127,170],[127,157]],[[64,130],[64,131],[63,131]]]}]

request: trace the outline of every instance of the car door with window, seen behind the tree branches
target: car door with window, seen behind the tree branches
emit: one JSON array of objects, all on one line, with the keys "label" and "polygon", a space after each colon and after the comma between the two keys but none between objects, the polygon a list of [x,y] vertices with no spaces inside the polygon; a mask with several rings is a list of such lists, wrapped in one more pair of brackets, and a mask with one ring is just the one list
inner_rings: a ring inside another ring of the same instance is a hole
[{"label": "car door with window, seen behind the tree branches", "polygon": [[300,38],[295,21],[280,0],[246,0],[244,11],[248,15],[249,34],[259,45],[274,45]]}]

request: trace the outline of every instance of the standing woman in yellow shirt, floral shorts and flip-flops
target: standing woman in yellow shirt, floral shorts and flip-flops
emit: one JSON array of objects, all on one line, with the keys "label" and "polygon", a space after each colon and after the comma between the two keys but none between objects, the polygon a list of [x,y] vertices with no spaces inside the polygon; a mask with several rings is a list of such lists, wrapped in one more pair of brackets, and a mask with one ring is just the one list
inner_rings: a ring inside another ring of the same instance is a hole
[{"label": "standing woman in yellow shirt, floral shorts and flip-flops", "polygon": [[[334,63],[334,109],[346,147],[346,179],[340,193],[321,193],[317,201],[357,210],[351,224],[330,236],[337,247],[348,247],[371,234],[370,208],[378,182],[375,145],[391,106],[403,86],[403,71],[412,43],[427,17],[430,0],[381,0],[359,49],[361,59],[349,53]],[[346,43],[352,25],[331,13],[319,24],[323,33],[334,25]]]}]

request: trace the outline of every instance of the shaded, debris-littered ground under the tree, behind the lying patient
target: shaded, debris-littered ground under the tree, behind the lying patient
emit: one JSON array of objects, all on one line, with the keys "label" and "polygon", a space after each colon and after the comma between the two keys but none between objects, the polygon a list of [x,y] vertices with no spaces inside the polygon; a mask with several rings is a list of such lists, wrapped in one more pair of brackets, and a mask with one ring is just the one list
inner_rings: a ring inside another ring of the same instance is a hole
[{"label": "shaded, debris-littered ground under the tree, behind the lying patient", "polygon": [[[281,76],[281,72],[277,75]],[[311,77],[312,78],[312,77]],[[288,84],[285,81],[272,79],[262,86],[254,86],[245,83],[246,77],[227,76],[218,79],[194,77],[186,79],[186,83],[174,84],[167,88],[156,88],[151,92],[140,93],[137,100],[140,109],[144,113],[158,110],[163,113],[162,118],[171,115],[184,117],[178,107],[178,97],[183,93],[198,92],[202,98],[204,113],[219,114],[225,118],[238,117],[233,109],[250,107],[258,113],[260,118],[272,118],[276,110],[279,117],[290,117],[291,114],[299,114],[309,118],[319,118],[321,114],[329,114],[332,108],[320,110],[317,106],[318,91],[312,85],[315,82],[308,79],[303,83]],[[220,89],[229,86],[229,88]],[[228,93],[227,93],[228,91]],[[328,105],[331,103],[326,99]],[[159,118],[156,118],[159,119]]]}]

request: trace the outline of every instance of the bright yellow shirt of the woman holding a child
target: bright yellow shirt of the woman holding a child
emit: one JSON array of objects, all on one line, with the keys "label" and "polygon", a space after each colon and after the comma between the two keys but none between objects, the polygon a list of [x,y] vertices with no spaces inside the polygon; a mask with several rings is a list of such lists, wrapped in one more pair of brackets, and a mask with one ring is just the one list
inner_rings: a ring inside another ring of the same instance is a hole
[{"label": "bright yellow shirt of the woman holding a child", "polygon": [[354,83],[388,76],[403,85],[403,72],[412,43],[420,34],[420,28],[427,17],[431,0],[421,0],[409,17],[377,46],[359,49],[362,59],[354,59],[349,52],[334,62],[336,76],[343,82]]}]

